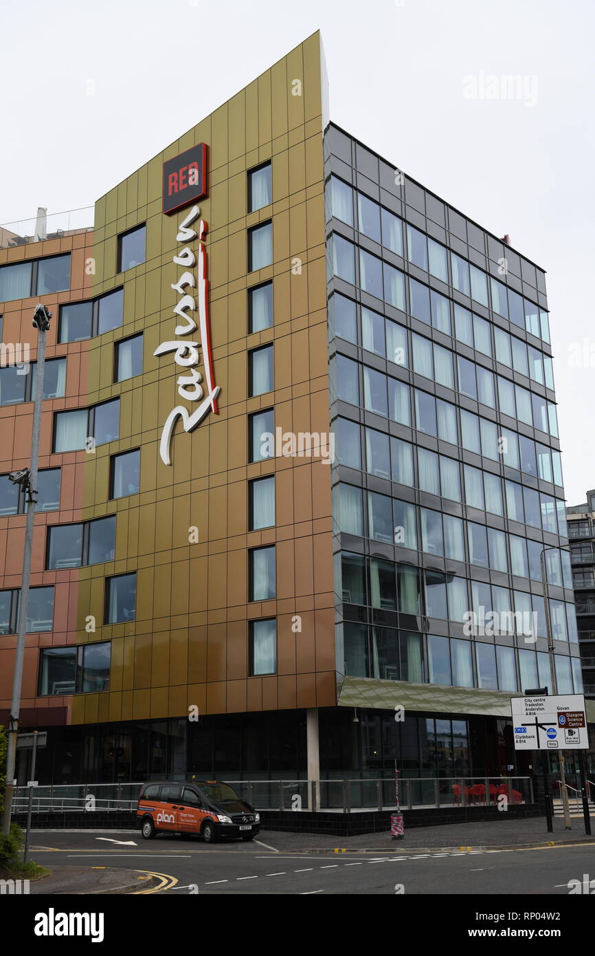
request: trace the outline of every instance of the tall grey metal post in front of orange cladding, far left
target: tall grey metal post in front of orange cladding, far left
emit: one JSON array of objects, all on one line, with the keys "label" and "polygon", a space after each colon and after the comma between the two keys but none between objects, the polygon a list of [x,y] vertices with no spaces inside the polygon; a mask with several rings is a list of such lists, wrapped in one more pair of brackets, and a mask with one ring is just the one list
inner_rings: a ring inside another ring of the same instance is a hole
[{"label": "tall grey metal post in front of orange cladding, far left", "polygon": [[39,460],[39,435],[41,432],[41,402],[43,396],[43,377],[46,359],[46,332],[50,328],[52,313],[45,305],[37,305],[33,314],[33,328],[37,329],[37,365],[35,375],[35,399],[33,404],[33,423],[31,439],[31,468],[13,471],[11,481],[19,485],[27,495],[27,523],[25,525],[25,551],[23,554],[23,574],[21,577],[21,595],[18,613],[18,637],[12,675],[11,717],[9,720],[9,747],[7,752],[6,787],[4,793],[4,820],[2,830],[8,834],[11,829],[12,793],[14,790],[14,766],[16,762],[16,738],[18,736],[21,708],[21,687],[23,684],[23,664],[25,663],[25,635],[27,633],[27,612],[29,609],[29,583],[31,580],[31,558],[33,546],[33,525],[35,520],[35,485],[37,484],[37,464]]}]

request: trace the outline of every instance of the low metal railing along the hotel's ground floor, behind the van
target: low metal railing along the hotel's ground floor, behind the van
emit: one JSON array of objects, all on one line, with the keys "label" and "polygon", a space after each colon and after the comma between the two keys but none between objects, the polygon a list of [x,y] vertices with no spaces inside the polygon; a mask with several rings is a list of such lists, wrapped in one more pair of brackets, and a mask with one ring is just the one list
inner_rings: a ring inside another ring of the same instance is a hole
[{"label": "low metal railing along the hotel's ground floor, behind the van", "polygon": [[[180,781],[182,782],[182,781]],[[200,781],[196,781],[200,784]],[[227,780],[256,810],[321,810],[340,814],[393,810],[394,778],[337,780]],[[32,813],[134,812],[141,783],[35,787]],[[399,780],[402,809],[533,803],[530,777],[410,777]],[[17,787],[13,813],[25,813],[29,788]]]}]

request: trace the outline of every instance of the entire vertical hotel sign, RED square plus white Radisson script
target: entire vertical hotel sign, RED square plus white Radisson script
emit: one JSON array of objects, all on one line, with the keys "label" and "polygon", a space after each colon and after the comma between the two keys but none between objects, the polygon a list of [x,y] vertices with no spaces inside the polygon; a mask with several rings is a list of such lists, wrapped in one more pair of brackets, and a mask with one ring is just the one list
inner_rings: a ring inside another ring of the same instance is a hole
[{"label": "entire vertical hotel sign, RED square plus white Radisson script", "polygon": [[[163,212],[165,215],[171,215],[190,203],[196,203],[205,195],[206,145],[202,142],[163,163]],[[176,240],[181,248],[176,250],[173,262],[180,266],[183,272],[178,281],[171,284],[171,288],[179,295],[173,310],[174,315],[181,319],[181,324],[174,330],[176,336],[197,338],[195,333],[198,329],[200,341],[183,341],[177,338],[161,342],[153,353],[156,356],[174,353],[175,363],[186,370],[177,380],[178,394],[189,402],[200,402],[192,411],[188,411],[184,405],[177,405],[167,416],[159,443],[159,454],[165,465],[171,465],[171,442],[179,419],[183,430],[189,432],[196,428],[209,412],[212,411],[215,415],[219,413],[217,396],[220,388],[215,383],[211,352],[207,256],[204,246],[208,226],[200,216],[200,206],[192,206],[178,224]],[[199,222],[195,226],[197,220]],[[198,325],[194,316],[196,312]],[[197,367],[201,364],[204,378]],[[206,388],[206,395],[202,383]]]}]

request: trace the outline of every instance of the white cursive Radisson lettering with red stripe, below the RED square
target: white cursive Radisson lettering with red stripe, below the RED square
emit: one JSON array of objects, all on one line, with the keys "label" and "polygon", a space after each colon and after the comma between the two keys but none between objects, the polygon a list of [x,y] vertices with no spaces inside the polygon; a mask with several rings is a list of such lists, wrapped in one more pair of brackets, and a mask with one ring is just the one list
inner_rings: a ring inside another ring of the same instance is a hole
[{"label": "white cursive Radisson lettering with red stripe, below the RED square", "polygon": [[[181,375],[178,378],[179,395],[181,395],[182,399],[188,399],[189,402],[199,402],[201,399],[202,402],[193,412],[188,412],[188,409],[183,405],[177,405],[167,416],[159,443],[159,454],[161,461],[165,465],[171,465],[170,445],[178,419],[181,419],[184,431],[192,431],[202,422],[202,419],[209,411],[213,411],[216,415],[219,411],[216,400],[221,389],[219,385],[215,384],[215,372],[211,354],[208,315],[208,277],[206,271],[206,250],[203,241],[208,226],[202,219],[199,223],[198,233],[196,229],[190,228],[200,214],[200,206],[193,206],[179,226],[176,239],[179,243],[184,243],[185,245],[183,249],[173,257],[173,261],[177,266],[181,266],[184,272],[181,273],[178,282],[172,283],[172,289],[180,295],[178,304],[174,308],[174,314],[178,315],[185,323],[176,326],[176,335],[190,336],[196,332],[197,323],[192,317],[192,313],[196,311],[198,302],[201,342],[181,342],[179,339],[161,342],[153,354],[162,356],[165,355],[166,352],[173,352],[176,364],[188,370],[185,375]],[[198,285],[194,272],[191,272],[197,265],[197,257],[188,245],[193,239],[197,238],[197,235],[199,239]],[[196,295],[186,291],[190,289],[196,290]],[[204,379],[207,392],[206,397],[203,397],[204,392],[201,385],[202,375],[196,367],[201,360],[200,349],[202,349],[202,364],[204,365]]]}]

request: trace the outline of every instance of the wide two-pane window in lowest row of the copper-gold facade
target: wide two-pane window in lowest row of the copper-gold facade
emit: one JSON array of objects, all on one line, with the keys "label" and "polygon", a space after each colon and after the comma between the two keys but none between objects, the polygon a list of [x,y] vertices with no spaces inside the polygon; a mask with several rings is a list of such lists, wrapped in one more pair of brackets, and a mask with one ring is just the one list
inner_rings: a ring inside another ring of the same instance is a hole
[{"label": "wide two-pane window in lowest row of the copper-gold facade", "polygon": [[110,641],[80,647],[44,647],[39,658],[41,696],[110,689]]}]

